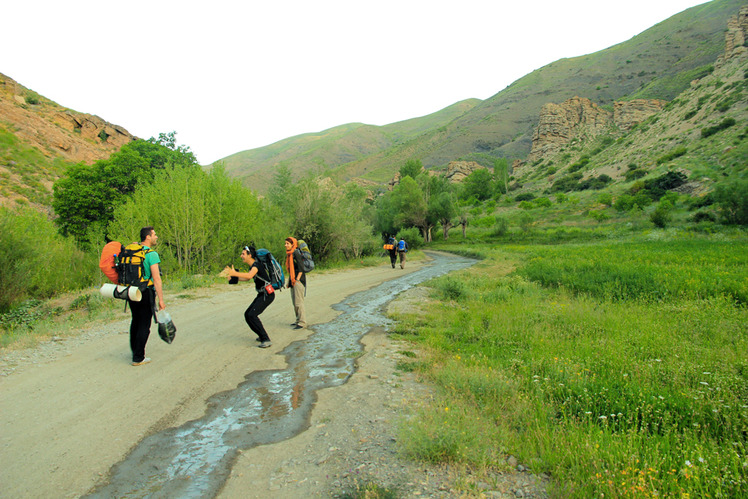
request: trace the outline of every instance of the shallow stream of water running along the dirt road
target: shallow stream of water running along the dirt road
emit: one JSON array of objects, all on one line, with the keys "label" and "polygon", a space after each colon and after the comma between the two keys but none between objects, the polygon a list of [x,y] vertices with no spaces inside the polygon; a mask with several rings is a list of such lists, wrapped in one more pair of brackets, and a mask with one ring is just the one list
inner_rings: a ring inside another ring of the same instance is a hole
[{"label": "shallow stream of water running along the dirt road", "polygon": [[399,293],[475,260],[432,253],[423,268],[349,296],[336,319],[315,325],[280,353],[288,367],[256,371],[236,389],[212,396],[205,415],[145,438],[115,465],[107,485],[87,497],[214,497],[241,450],[272,444],[309,427],[316,392],[353,374],[361,337],[391,321],[382,309]]}]

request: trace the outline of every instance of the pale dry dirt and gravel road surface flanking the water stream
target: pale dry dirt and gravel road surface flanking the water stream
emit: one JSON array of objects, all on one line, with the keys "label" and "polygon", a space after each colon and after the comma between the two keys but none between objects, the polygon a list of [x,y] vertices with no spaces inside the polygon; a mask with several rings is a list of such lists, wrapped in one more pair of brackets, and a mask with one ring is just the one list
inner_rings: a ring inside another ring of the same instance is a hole
[{"label": "pale dry dirt and gravel road surface flanking the water stream", "polygon": [[[310,274],[310,324],[332,320],[332,305],[348,295],[420,266]],[[262,315],[273,346],[257,348],[243,320],[253,293],[246,283],[204,290],[197,299],[167,296],[177,339],[167,345],[153,327],[146,350],[153,362],[140,367],[130,365],[129,313],[34,350],[0,352],[2,497],[85,495],[144,437],[200,418],[211,395],[236,388],[252,371],[283,368],[278,352],[311,331],[289,327],[293,312],[284,292]],[[420,296],[417,289],[404,294]],[[241,453],[219,497],[330,497],[370,481],[399,488],[401,497],[461,495],[453,491],[453,470],[395,455],[397,419],[414,401],[428,400],[428,390],[396,372],[403,347],[383,331],[363,342],[357,372],[320,392],[310,428]],[[488,489],[535,495],[533,477],[496,478]]]}]

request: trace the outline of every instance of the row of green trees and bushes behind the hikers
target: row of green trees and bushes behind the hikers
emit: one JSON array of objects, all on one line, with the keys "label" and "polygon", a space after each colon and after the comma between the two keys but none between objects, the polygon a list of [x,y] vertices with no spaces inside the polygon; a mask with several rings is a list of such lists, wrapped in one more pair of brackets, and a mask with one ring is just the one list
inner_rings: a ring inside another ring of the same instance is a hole
[{"label": "row of green trees and bushes behind the hikers", "polygon": [[[502,161],[495,171],[505,180]],[[174,132],[135,140],[108,159],[70,166],[54,184],[54,217],[0,208],[0,251],[10,262],[0,268],[0,311],[95,285],[103,245],[132,242],[148,225],[159,232],[167,275],[217,272],[250,243],[282,255],[288,236],[304,239],[324,266],[381,252],[383,234],[402,235],[411,248],[431,241],[436,227],[447,238],[451,227],[464,229],[472,204],[506,191],[489,170],[474,172],[459,188],[427,174],[419,160],[406,162],[400,174],[392,191],[371,192],[353,182],[294,178],[280,165],[262,197],[220,163],[201,168]]]}]

